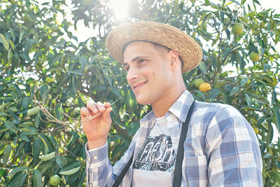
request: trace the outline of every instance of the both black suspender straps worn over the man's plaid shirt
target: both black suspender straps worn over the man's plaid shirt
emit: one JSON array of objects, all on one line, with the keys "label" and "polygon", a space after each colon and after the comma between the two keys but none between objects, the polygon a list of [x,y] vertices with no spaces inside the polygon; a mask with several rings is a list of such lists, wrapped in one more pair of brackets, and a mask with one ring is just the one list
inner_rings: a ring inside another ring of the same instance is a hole
[{"label": "both black suspender straps worn over the man's plaid shirt", "polygon": [[[173,177],[173,187],[181,186],[181,180],[182,180],[182,163],[183,163],[183,143],[186,139],[187,132],[188,132],[188,123],[190,122],[190,116],[192,116],[193,109],[195,108],[195,100],[193,101],[193,104],[190,106],[190,109],[188,111],[188,115],[186,118],[185,123],[182,124],[181,127],[181,134],[180,134],[180,140],[179,140],[179,146],[178,151],[176,155],[176,162],[175,162],[175,168],[174,168],[174,177]],[[120,183],[123,181],[123,177],[127,173],[128,169],[130,168],[130,165],[132,164],[133,154],[130,160],[127,162],[125,167],[123,168],[123,171],[120,172],[120,175],[116,179],[116,181],[113,183],[112,187],[118,187]]]}]

